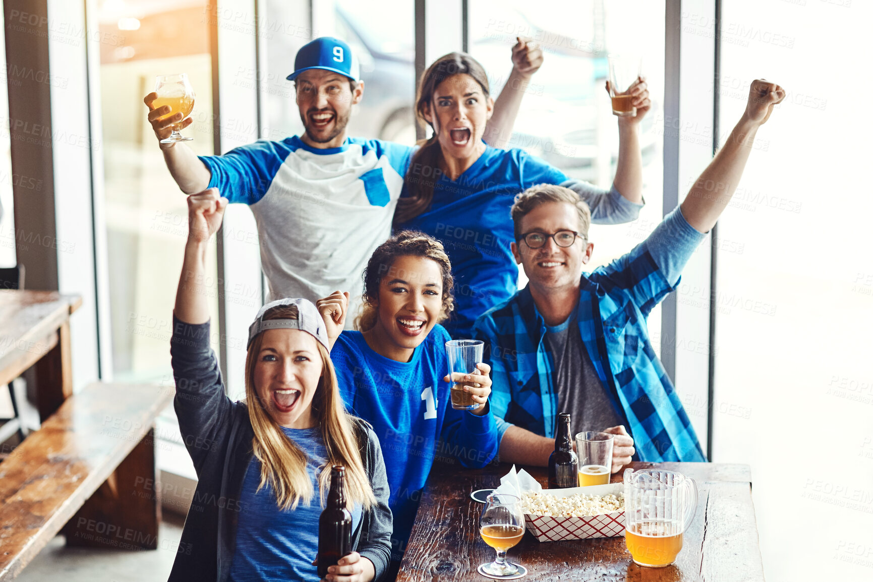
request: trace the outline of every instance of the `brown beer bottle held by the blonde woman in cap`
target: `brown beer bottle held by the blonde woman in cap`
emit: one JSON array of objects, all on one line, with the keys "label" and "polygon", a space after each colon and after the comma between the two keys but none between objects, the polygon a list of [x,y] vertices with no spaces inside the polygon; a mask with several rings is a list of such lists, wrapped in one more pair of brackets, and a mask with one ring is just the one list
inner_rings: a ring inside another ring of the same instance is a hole
[{"label": "brown beer bottle held by the blonde woman in cap", "polygon": [[319,578],[327,576],[327,567],[336,565],[352,553],[352,513],[346,507],[346,468],[333,465],[327,504],[319,517]]}]

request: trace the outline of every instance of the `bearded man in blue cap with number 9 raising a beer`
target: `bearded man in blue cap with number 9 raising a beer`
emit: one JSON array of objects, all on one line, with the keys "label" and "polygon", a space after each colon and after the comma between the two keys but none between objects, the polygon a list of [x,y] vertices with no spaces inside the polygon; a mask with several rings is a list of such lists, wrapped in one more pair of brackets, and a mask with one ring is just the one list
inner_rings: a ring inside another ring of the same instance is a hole
[{"label": "bearded man in blue cap with number 9 raising a beer", "polygon": [[[512,87],[526,85],[542,64],[542,51],[519,38],[512,63],[512,76],[486,127],[488,141],[512,133],[524,93]],[[355,310],[361,300],[361,273],[390,235],[413,147],[347,137],[364,81],[354,51],[339,38],[316,38],[301,47],[288,79],[294,82],[306,128],[302,135],[258,140],[227,154],[199,157],[183,142],[162,143],[164,161],[184,193],[214,187],[230,202],[250,205],[258,223],[268,300],[315,301],[343,289],[352,292]],[[181,114],[168,115],[167,106],[154,108],[156,97],[149,93],[145,103],[148,120],[162,140]],[[182,127],[190,122],[182,121]]]}]

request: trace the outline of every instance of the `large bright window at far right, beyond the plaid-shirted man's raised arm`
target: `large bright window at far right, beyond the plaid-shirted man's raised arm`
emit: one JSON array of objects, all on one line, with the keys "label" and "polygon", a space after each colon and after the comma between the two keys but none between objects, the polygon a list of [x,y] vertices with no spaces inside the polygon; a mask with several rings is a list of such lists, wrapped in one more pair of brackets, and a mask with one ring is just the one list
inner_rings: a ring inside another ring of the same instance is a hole
[{"label": "large bright window at far right, beyond the plaid-shirted man's raised arm", "polygon": [[713,461],[752,465],[767,579],[873,578],[873,152],[857,104],[871,18],[849,0],[724,3],[722,139],[752,79],[787,89],[718,222],[732,244],[718,253]]}]

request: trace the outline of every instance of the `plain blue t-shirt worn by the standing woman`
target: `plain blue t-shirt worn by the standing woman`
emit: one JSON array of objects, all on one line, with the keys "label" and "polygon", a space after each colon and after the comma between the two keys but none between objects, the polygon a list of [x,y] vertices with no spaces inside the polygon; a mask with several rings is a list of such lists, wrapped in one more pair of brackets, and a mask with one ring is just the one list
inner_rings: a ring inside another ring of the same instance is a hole
[{"label": "plain blue t-shirt worn by the standing woman", "polygon": [[457,180],[443,175],[436,182],[430,209],[395,226],[443,242],[455,277],[455,311],[443,325],[453,338],[470,338],[476,318],[518,289],[519,269],[509,248],[515,195],[534,184],[566,180],[559,169],[520,149],[489,146]]}]

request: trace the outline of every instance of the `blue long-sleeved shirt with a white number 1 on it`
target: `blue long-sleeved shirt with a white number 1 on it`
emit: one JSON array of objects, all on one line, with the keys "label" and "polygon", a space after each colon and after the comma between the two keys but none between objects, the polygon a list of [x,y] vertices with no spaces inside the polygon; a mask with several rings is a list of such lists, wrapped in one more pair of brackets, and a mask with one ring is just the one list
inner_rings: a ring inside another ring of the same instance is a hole
[{"label": "blue long-sleeved shirt with a white number 1 on it", "polygon": [[340,333],[331,350],[347,409],[372,424],[382,443],[394,515],[393,560],[403,557],[434,456],[478,468],[497,455],[491,412],[477,416],[451,407],[450,385],[443,382],[449,339],[443,326],[435,325],[409,362],[375,353],[361,332]]}]

